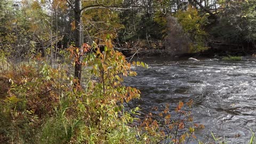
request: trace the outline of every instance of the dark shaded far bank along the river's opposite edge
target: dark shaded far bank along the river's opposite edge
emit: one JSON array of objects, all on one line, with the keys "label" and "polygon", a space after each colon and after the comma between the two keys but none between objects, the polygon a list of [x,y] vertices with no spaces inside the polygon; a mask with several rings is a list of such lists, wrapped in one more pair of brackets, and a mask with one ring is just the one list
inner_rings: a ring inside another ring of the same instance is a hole
[{"label": "dark shaded far bank along the river's opposite edge", "polygon": [[250,56],[256,53],[256,48],[253,45],[238,45],[220,41],[211,41],[207,43],[207,50],[196,53],[176,53],[172,50],[167,50],[162,41],[137,42],[126,44],[123,48],[117,49],[121,51],[127,58],[137,57],[171,57],[173,59],[183,57],[196,58],[216,58],[225,57],[228,55]]}]

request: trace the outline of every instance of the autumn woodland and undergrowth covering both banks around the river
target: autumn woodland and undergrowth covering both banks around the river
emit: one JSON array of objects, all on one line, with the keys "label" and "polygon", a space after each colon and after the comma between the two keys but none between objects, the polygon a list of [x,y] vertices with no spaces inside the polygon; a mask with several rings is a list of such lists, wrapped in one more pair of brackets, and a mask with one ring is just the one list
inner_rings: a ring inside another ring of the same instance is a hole
[{"label": "autumn woodland and undergrowth covering both banks around the river", "polygon": [[124,107],[140,97],[124,77],[147,68],[133,58],[255,50],[256,1],[2,0],[0,143],[197,140],[193,101],[178,119],[167,105],[145,119]]}]

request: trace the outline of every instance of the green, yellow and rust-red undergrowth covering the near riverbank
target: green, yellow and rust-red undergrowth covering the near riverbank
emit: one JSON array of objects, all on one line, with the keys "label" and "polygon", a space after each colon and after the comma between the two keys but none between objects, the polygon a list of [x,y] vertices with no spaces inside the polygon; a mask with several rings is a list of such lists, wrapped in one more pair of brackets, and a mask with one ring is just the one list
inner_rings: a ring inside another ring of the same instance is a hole
[{"label": "green, yellow and rust-red undergrowth covering the near riverbank", "polygon": [[[91,51],[91,52],[89,52]],[[202,125],[189,125],[190,112],[175,109],[171,118],[166,106],[158,116],[151,113],[142,121],[135,118],[139,108],[124,110],[124,102],[140,98],[135,87],[124,86],[123,78],[135,76],[129,63],[107,39],[104,51],[97,44],[84,47],[81,85],[69,74],[68,65],[52,68],[38,55],[29,62],[12,63],[2,53],[0,82],[0,136],[5,143],[185,143],[195,139]],[[77,47],[68,49],[77,60]],[[68,61],[68,60],[67,60]],[[189,101],[190,107],[192,101]],[[140,123],[134,126],[134,121]],[[188,124],[188,125],[187,125]]]}]

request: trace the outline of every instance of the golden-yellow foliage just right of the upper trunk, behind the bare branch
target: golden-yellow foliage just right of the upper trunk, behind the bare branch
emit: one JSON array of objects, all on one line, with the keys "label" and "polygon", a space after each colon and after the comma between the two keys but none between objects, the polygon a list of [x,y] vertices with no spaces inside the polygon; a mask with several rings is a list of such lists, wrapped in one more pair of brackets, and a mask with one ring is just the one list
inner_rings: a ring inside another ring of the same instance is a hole
[{"label": "golden-yellow foliage just right of the upper trunk, behind the bare branch", "polygon": [[[119,5],[122,1],[97,1],[98,4],[105,6]],[[95,5],[94,1],[83,1],[83,6]],[[87,26],[87,33],[93,36],[92,39],[98,44],[104,44],[102,39],[106,35],[111,35],[111,38],[117,37],[117,31],[122,30],[121,18],[119,18],[118,11],[109,9],[89,9],[83,12],[82,20],[84,26]],[[74,21],[73,21],[74,23]],[[86,34],[87,36],[87,34]],[[95,39],[94,39],[95,38]]]}]

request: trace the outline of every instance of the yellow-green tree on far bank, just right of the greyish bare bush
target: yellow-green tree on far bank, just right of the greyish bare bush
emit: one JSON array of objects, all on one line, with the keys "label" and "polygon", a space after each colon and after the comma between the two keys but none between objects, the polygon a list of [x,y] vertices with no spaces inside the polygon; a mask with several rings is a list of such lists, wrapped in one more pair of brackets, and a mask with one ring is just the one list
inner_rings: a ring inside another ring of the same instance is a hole
[{"label": "yellow-green tree on far bank, just right of the greyish bare bush", "polygon": [[197,10],[191,6],[188,7],[187,11],[179,10],[174,17],[178,19],[183,31],[191,40],[189,43],[190,52],[206,50],[207,33],[203,30],[203,27],[207,23],[207,18],[200,17]]}]

